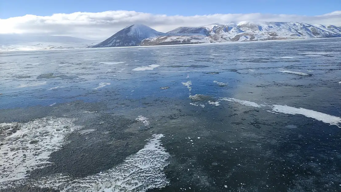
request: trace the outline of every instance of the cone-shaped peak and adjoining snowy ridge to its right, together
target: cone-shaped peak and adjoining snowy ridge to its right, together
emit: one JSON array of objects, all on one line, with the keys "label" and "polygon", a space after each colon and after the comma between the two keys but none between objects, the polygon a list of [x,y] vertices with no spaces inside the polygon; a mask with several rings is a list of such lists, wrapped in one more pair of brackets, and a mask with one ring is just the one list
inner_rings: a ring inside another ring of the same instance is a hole
[{"label": "cone-shaped peak and adjoining snowy ridge to its right, together", "polygon": [[132,25],[92,47],[144,46],[341,37],[341,27],[298,22],[253,22],[179,27],[167,33]]}]

